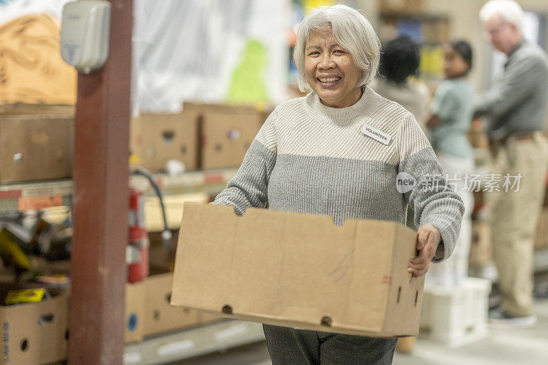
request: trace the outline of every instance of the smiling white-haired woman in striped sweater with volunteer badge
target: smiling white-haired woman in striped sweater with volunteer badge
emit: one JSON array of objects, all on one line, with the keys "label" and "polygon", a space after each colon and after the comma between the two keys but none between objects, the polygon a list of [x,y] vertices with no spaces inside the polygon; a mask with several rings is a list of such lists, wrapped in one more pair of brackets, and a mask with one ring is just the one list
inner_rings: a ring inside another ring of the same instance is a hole
[{"label": "smiling white-haired woman in striped sweater with volunteer badge", "polygon": [[[275,108],[214,203],[238,214],[268,203],[327,214],[336,225],[347,217],[405,223],[409,204],[420,228],[408,270],[424,275],[453,251],[464,207],[443,180],[421,187],[442,173],[432,147],[410,112],[367,86],[379,64],[371,23],[345,5],[319,8],[301,23],[294,56],[299,87],[312,92]],[[419,185],[401,190],[398,174]],[[273,364],[390,364],[396,344],[271,325],[264,333]]]}]

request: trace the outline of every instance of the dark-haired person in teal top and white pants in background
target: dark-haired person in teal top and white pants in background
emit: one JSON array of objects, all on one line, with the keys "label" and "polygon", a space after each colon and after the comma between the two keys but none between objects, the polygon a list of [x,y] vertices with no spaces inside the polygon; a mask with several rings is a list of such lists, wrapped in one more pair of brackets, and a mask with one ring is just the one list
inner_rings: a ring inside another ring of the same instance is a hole
[{"label": "dark-haired person in teal top and white pants in background", "polygon": [[455,252],[446,262],[432,267],[425,277],[428,284],[445,287],[459,286],[468,276],[474,205],[473,194],[466,190],[466,175],[471,178],[474,171],[473,149],[466,138],[474,112],[474,92],[466,80],[472,66],[472,49],[467,42],[449,42],[443,48],[443,72],[432,101],[427,127],[430,142],[443,167],[451,186],[464,202],[464,216]]}]

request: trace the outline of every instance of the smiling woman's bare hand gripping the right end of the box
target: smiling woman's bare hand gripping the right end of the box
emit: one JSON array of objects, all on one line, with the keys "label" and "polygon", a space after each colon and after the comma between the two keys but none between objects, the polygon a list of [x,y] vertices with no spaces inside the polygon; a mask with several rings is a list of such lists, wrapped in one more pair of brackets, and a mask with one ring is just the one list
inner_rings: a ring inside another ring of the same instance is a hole
[{"label": "smiling woman's bare hand gripping the right end of the box", "polygon": [[419,277],[428,271],[438,244],[441,242],[441,234],[430,224],[421,225],[417,233],[419,237],[416,238],[416,250],[419,251],[419,255],[409,260],[408,272]]}]

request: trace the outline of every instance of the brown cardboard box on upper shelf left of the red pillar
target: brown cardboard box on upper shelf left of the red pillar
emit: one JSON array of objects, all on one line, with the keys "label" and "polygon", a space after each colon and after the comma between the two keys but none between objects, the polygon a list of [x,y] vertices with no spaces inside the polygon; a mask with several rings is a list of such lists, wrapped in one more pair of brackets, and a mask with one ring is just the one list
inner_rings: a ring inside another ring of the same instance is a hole
[{"label": "brown cardboard box on upper shelf left of the red pillar", "polygon": [[71,177],[74,114],[25,113],[0,115],[0,183]]}]

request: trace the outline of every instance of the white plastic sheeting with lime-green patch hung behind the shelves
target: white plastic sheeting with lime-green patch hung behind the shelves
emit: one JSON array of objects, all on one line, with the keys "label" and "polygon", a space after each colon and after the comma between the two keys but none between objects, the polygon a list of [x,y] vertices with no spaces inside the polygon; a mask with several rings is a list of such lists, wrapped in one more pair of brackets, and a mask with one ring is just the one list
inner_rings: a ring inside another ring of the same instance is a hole
[{"label": "white plastic sheeting with lime-green patch hung behind the shelves", "polygon": [[[18,16],[60,19],[67,0],[3,0]],[[286,99],[290,0],[134,0],[132,99],[137,112],[178,112],[183,101]]]}]

